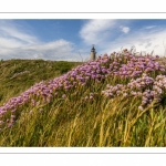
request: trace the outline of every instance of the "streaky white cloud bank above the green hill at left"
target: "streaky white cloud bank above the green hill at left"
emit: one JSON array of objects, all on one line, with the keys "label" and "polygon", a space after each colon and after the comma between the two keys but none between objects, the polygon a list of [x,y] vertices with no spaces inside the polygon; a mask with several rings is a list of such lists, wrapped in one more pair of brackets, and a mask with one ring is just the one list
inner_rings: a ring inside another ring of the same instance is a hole
[{"label": "streaky white cloud bank above the green hill at left", "polygon": [[0,21],[0,59],[81,61],[73,43],[63,39],[41,42],[34,34],[29,33],[29,30],[12,21]]}]

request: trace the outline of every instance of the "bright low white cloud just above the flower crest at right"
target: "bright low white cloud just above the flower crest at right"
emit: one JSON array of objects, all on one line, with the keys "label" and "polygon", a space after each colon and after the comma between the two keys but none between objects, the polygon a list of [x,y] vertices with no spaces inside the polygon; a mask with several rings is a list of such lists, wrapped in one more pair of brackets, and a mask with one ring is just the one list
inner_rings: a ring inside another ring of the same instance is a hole
[{"label": "bright low white cloud just above the flower crest at right", "polygon": [[112,53],[114,51],[121,51],[123,49],[131,49],[132,46],[136,48],[137,52],[151,53],[154,51],[154,54],[166,55],[166,30],[156,29],[156,31],[135,31],[127,37],[118,37],[114,42],[107,43],[101,52]]}]

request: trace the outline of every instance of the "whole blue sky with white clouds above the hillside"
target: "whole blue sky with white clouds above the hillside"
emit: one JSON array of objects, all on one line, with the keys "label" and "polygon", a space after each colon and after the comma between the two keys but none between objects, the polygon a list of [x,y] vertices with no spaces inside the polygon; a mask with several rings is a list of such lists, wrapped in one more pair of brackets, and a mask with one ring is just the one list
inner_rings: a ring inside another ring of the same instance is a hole
[{"label": "whole blue sky with white clouds above the hillside", "polygon": [[166,20],[157,19],[0,19],[0,60],[86,61],[121,52],[166,55]]}]

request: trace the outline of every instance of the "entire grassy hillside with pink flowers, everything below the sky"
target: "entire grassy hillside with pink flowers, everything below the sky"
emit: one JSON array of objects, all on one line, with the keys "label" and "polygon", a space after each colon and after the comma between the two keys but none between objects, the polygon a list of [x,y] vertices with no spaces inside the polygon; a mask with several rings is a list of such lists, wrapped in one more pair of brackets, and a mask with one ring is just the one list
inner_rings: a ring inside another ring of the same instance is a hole
[{"label": "entire grassy hillside with pink flowers, everything below the sky", "polygon": [[0,146],[166,146],[164,58],[124,50],[61,76],[17,61],[1,62]]}]

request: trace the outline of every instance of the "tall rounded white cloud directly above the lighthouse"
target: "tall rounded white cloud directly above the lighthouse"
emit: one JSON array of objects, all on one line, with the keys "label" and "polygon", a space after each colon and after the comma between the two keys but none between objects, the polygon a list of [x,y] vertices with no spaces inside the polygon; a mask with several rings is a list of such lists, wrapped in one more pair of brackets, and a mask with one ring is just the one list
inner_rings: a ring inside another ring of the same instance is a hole
[{"label": "tall rounded white cloud directly above the lighthouse", "polygon": [[[104,54],[113,48],[120,38],[124,41],[124,34],[128,35],[129,27],[125,25],[125,20],[90,20],[80,30],[80,37],[83,39],[86,48],[95,44],[97,54]],[[124,24],[124,25],[122,25]],[[123,33],[122,33],[123,32]]]}]

